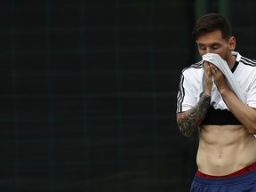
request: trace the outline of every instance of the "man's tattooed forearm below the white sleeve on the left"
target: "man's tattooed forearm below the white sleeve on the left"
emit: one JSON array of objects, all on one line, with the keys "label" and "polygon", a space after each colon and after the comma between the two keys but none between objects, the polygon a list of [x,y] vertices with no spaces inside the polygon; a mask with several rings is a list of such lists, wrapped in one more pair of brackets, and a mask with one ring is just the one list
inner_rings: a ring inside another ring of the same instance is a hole
[{"label": "man's tattooed forearm below the white sleeve on the left", "polygon": [[180,132],[190,137],[196,128],[204,120],[207,110],[210,107],[211,96],[202,93],[200,100],[194,108],[183,113],[177,114],[177,124],[180,127]]}]

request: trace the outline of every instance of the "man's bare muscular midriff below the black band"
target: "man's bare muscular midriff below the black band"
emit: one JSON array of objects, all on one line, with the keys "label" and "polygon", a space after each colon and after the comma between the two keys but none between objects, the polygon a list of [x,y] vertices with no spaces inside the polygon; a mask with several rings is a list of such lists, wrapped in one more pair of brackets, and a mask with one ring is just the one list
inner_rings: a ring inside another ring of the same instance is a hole
[{"label": "man's bare muscular midriff below the black band", "polygon": [[204,125],[196,158],[198,170],[226,175],[256,162],[256,140],[243,125]]}]

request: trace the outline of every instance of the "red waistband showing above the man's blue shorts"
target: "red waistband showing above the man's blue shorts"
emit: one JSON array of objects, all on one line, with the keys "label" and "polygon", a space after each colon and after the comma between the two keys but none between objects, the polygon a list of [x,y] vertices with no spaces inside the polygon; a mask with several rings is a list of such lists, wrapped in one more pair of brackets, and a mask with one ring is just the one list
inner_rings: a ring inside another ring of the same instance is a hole
[{"label": "red waistband showing above the man's blue shorts", "polygon": [[214,176],[214,175],[205,174],[204,172],[197,171],[196,176],[203,177],[203,178],[229,178],[229,177],[235,177],[235,176],[244,174],[246,172],[252,172],[254,170],[256,170],[256,162],[253,164],[250,164],[249,166],[244,167],[241,170],[238,170],[237,172],[232,172],[228,175]]}]

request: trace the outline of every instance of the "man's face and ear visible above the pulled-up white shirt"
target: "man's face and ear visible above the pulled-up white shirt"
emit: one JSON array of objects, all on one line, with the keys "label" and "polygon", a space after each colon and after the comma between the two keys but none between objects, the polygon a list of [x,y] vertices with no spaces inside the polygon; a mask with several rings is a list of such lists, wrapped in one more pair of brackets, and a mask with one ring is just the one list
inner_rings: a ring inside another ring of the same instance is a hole
[{"label": "man's face and ear visible above the pulled-up white shirt", "polygon": [[201,56],[209,52],[216,53],[223,60],[228,60],[231,51],[235,50],[236,47],[235,37],[232,36],[228,40],[223,39],[220,30],[198,36],[196,43]]}]

